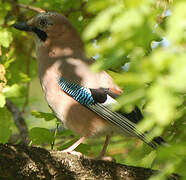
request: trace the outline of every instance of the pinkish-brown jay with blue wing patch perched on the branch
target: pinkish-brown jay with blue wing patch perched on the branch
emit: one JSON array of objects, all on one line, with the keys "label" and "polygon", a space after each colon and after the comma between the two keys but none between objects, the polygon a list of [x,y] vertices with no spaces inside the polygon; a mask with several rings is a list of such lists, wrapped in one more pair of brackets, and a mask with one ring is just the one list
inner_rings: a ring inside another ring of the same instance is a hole
[{"label": "pinkish-brown jay with blue wing patch perched on the branch", "polygon": [[135,123],[142,118],[137,107],[130,114],[111,110],[122,90],[108,73],[90,70],[94,61],[87,60],[83,42],[67,18],[55,12],[41,13],[14,27],[33,32],[46,100],[64,126],[82,136],[67,152],[86,137],[107,134],[103,156],[112,132],[138,137],[156,148],[158,141],[151,141],[136,128]]}]

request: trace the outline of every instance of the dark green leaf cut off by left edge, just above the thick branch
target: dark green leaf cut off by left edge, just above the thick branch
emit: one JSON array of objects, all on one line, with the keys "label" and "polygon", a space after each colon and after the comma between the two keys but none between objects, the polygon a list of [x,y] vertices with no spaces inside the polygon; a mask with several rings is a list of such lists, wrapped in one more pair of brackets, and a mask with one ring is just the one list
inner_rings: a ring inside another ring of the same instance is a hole
[{"label": "dark green leaf cut off by left edge, just above the thick branch", "polygon": [[12,116],[6,108],[0,108],[0,143],[7,143],[11,136]]}]

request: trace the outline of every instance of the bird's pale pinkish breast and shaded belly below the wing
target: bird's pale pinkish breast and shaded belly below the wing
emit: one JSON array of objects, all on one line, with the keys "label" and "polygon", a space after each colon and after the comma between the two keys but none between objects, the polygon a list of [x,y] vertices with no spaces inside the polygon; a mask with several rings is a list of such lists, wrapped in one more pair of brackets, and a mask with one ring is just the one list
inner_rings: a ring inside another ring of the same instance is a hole
[{"label": "bird's pale pinkish breast and shaded belly below the wing", "polygon": [[63,124],[82,136],[93,136],[110,131],[110,125],[100,116],[79,104],[58,84],[60,74],[50,67],[40,77],[46,100]]}]

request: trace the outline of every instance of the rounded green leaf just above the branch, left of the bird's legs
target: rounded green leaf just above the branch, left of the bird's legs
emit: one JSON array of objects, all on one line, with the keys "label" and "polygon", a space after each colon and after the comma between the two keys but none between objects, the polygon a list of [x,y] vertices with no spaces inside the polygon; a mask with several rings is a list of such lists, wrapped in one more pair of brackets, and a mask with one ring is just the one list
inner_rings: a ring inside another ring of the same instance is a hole
[{"label": "rounded green leaf just above the branch, left of the bird's legs", "polygon": [[33,144],[51,144],[54,140],[54,134],[46,128],[32,128],[29,136]]}]

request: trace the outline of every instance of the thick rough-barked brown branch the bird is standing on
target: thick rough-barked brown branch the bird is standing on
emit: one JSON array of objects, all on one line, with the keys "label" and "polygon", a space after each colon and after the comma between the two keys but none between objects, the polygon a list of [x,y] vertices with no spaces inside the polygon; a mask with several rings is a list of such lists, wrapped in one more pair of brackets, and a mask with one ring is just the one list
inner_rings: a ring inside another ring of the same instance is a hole
[{"label": "thick rough-barked brown branch the bird is standing on", "polygon": [[145,180],[157,171],[39,147],[0,144],[0,179]]}]

